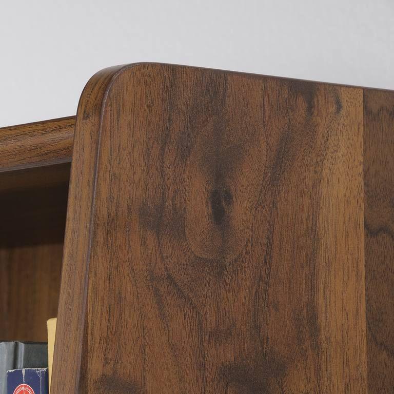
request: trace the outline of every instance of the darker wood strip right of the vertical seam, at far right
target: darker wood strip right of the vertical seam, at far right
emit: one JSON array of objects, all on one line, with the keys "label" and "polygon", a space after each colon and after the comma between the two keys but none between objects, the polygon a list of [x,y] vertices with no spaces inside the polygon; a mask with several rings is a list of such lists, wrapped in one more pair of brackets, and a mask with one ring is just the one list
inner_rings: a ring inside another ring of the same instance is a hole
[{"label": "darker wood strip right of the vertical seam, at far right", "polygon": [[364,91],[368,392],[394,392],[394,92]]}]

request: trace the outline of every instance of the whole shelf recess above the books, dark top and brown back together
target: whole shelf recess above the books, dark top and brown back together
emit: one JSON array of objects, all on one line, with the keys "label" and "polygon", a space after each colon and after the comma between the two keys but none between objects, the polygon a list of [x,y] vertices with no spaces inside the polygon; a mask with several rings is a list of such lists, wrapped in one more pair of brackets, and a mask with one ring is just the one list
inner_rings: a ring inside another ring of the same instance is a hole
[{"label": "whole shelf recess above the books, dark top and brown back together", "polygon": [[46,341],[57,315],[70,164],[0,173],[0,339]]}]

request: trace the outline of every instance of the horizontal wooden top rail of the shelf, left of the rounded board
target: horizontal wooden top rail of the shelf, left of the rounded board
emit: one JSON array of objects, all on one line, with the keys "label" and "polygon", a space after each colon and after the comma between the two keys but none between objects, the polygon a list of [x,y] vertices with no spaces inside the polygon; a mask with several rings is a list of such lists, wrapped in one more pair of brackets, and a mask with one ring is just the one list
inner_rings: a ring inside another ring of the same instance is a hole
[{"label": "horizontal wooden top rail of the shelf, left of the rounded board", "polygon": [[0,128],[0,172],[71,161],[75,116]]}]

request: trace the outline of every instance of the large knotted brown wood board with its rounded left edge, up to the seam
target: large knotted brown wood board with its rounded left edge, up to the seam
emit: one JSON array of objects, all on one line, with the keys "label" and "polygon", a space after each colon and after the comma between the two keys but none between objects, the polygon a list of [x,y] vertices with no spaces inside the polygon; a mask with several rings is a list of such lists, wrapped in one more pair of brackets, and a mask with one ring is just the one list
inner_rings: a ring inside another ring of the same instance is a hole
[{"label": "large knotted brown wood board with its rounded left edge, up to the seam", "polygon": [[362,125],[359,88],[95,75],[53,394],[366,393]]}]

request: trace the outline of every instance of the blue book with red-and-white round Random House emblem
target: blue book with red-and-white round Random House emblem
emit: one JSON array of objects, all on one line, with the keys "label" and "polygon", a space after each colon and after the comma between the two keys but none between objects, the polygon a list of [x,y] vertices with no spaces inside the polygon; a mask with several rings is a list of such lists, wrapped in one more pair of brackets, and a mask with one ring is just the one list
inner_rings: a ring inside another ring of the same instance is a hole
[{"label": "blue book with red-and-white round Random House emblem", "polygon": [[7,372],[7,394],[48,392],[48,368],[24,368]]}]

